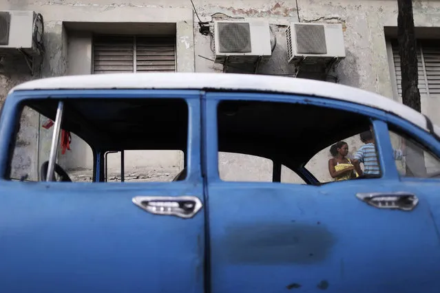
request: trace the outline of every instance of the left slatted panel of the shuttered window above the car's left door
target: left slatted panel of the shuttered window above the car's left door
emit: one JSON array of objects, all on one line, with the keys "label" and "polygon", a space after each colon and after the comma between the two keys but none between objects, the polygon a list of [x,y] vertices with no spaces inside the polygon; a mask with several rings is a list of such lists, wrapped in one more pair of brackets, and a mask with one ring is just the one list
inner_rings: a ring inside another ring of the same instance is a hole
[{"label": "left slatted panel of the shuttered window above the car's left door", "polygon": [[133,57],[133,36],[94,37],[94,74],[134,72]]}]

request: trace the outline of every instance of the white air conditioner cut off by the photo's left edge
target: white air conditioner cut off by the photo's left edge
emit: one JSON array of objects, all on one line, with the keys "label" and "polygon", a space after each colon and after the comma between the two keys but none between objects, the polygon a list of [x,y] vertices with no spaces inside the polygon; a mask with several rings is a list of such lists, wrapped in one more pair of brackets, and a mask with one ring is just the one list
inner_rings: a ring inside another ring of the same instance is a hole
[{"label": "white air conditioner cut off by the photo's left edge", "polygon": [[[43,19],[33,11],[0,11],[0,56],[41,54]],[[19,51],[21,50],[21,52]]]}]

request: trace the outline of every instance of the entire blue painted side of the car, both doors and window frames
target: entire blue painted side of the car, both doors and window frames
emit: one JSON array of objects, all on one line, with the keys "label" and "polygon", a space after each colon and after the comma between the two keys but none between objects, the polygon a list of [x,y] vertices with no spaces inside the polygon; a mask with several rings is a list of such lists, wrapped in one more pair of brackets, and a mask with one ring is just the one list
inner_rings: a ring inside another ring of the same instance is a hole
[{"label": "entire blue painted side of the car, both doors and window frames", "polygon": [[[379,109],[291,96],[289,102],[372,117],[382,177],[324,184],[223,182],[220,100],[286,96],[198,90],[15,91],[0,118],[6,171],[19,104],[32,98],[185,98],[188,176],[172,183],[0,180],[0,292],[438,292],[440,182],[400,178],[387,123],[440,156],[440,142]],[[96,171],[98,172],[98,170]],[[3,177],[4,177],[3,173]],[[410,212],[368,206],[357,193],[414,193]],[[192,219],[151,215],[135,196],[193,195]]]}]

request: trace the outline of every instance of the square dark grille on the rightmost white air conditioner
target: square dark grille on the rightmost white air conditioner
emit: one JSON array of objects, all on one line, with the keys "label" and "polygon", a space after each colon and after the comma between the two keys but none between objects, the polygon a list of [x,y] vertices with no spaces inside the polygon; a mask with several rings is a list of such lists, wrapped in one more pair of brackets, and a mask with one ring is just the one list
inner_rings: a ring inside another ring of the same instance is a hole
[{"label": "square dark grille on the rightmost white air conditioner", "polygon": [[297,52],[327,54],[324,25],[295,24]]}]

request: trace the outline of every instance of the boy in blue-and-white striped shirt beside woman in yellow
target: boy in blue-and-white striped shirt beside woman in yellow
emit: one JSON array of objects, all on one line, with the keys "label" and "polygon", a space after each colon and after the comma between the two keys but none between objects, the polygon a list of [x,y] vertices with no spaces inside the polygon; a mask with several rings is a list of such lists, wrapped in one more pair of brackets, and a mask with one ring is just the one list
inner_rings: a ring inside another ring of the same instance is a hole
[{"label": "boy in blue-and-white striped shirt beside woman in yellow", "polygon": [[[359,148],[353,164],[355,165],[355,171],[360,175],[380,175],[379,163],[377,162],[375,138],[371,131],[364,131],[360,134],[361,141],[364,145]],[[394,160],[401,160],[403,152],[401,150],[392,150]],[[364,172],[362,172],[360,163],[364,163]]]}]

